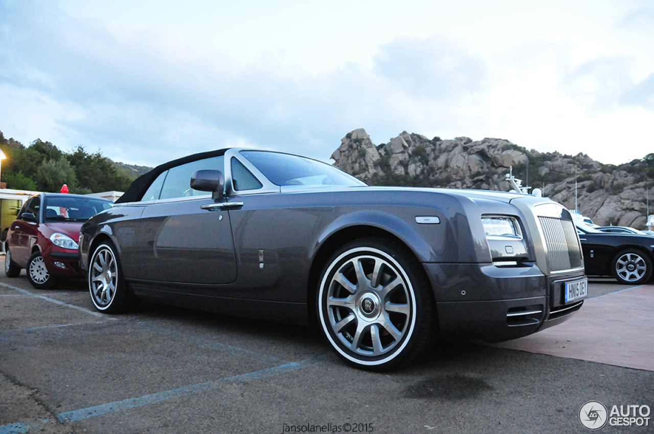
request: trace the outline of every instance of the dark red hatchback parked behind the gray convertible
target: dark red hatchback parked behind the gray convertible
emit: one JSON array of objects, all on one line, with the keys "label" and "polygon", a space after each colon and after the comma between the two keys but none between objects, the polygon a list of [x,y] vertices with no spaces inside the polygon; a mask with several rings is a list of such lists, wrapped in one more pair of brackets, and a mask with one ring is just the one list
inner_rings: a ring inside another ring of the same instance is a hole
[{"label": "dark red hatchback parked behind the gray convertible", "polygon": [[30,197],[7,233],[5,274],[26,269],[34,288],[54,288],[59,277],[81,276],[78,267],[80,227],[98,212],[112,207],[101,197],[41,193]]}]

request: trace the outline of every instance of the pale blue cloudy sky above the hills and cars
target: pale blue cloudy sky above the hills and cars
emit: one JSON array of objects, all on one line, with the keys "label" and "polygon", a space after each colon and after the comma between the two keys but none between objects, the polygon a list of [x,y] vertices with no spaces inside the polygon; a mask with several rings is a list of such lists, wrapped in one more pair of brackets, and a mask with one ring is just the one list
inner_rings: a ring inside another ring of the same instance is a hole
[{"label": "pale blue cloudy sky above the hills and cars", "polygon": [[349,131],[654,152],[654,3],[0,0],[0,131],[157,165]]}]

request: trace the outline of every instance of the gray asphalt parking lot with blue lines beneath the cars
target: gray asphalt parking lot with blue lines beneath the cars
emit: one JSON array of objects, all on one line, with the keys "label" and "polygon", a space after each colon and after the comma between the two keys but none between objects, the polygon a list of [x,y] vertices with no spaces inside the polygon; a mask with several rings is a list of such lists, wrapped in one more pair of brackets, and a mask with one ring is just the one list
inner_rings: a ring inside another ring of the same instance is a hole
[{"label": "gray asphalt parking lot with blue lines beneath the cars", "polygon": [[[654,299],[654,286],[636,290]],[[593,280],[589,296],[619,303],[619,291],[629,288]],[[0,434],[581,433],[587,401],[654,408],[650,369],[451,342],[367,373],[315,329],[160,305],[107,316],[84,282],[39,291],[3,274],[0,302]],[[642,310],[652,335],[654,311]],[[601,348],[610,324],[603,333],[579,339]]]}]

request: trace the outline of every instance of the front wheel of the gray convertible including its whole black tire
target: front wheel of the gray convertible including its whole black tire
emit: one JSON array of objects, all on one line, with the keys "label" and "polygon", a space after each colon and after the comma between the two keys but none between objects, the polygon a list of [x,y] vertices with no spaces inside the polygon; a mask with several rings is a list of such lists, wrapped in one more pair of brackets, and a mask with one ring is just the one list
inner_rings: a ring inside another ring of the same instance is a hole
[{"label": "front wheel of the gray convertible including its whole black tire", "polygon": [[368,371],[396,369],[432,347],[436,309],[421,264],[404,245],[345,244],[320,277],[318,324],[337,356]]}]

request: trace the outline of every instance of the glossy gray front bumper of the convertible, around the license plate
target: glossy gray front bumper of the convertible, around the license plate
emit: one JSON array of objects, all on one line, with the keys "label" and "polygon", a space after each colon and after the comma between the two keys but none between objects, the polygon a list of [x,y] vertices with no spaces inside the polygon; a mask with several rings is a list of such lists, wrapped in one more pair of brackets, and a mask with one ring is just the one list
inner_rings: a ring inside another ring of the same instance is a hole
[{"label": "glossy gray front bumper of the convertible, around the license plate", "polygon": [[423,265],[443,339],[515,339],[564,322],[583,304],[562,302],[565,282],[583,277],[583,270],[545,276],[536,265]]}]

